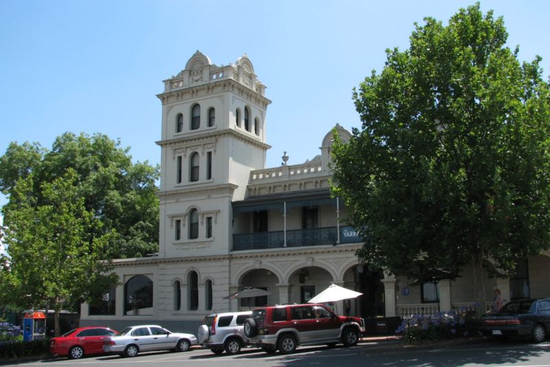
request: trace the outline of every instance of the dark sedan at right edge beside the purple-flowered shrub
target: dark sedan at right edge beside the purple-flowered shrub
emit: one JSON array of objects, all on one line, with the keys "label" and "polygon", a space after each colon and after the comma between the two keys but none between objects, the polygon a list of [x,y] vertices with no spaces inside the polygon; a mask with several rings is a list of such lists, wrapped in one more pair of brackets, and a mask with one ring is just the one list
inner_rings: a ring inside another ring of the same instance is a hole
[{"label": "dark sedan at right edge beside the purple-flowered shrub", "polygon": [[531,338],[540,343],[550,327],[550,298],[513,300],[481,318],[481,332],[499,340]]}]

